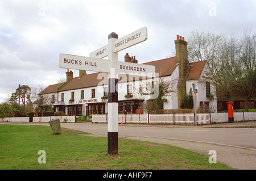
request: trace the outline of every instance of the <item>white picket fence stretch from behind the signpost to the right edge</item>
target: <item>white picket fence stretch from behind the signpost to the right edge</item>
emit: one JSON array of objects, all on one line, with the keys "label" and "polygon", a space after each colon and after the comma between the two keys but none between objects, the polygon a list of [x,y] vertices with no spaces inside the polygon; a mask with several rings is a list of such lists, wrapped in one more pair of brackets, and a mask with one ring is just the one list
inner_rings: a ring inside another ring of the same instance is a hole
[{"label": "white picket fence stretch from behind the signpost to the right edge", "polygon": [[[228,113],[197,113],[197,124],[228,123]],[[256,120],[256,112],[234,112],[234,121]],[[118,123],[195,124],[194,113],[118,115]],[[107,115],[92,115],[92,123],[108,123]]]}]

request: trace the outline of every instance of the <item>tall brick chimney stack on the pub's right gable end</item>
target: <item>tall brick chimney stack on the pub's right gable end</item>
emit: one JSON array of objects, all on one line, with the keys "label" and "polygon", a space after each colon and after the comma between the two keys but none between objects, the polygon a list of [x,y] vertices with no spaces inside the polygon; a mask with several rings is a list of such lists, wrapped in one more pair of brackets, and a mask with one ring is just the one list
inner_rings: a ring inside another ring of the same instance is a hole
[{"label": "tall brick chimney stack on the pub's right gable end", "polygon": [[177,84],[178,91],[178,106],[181,108],[182,100],[186,94],[186,78],[189,74],[189,62],[188,62],[188,48],[187,41],[184,37],[177,35],[177,40],[174,41],[176,50],[176,60],[179,64],[179,82]]}]

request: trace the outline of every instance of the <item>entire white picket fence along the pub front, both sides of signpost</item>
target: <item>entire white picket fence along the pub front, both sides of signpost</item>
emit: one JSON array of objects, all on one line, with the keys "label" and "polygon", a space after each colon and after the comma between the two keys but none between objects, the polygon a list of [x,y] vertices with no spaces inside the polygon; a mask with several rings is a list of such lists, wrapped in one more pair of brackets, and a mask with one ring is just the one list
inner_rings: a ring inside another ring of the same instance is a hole
[{"label": "entire white picket fence along the pub front, both sides of signpost", "polygon": [[[197,124],[228,123],[228,113],[197,113]],[[60,119],[67,123],[75,123],[76,116],[48,116],[33,117],[33,122],[48,123],[50,120]],[[256,120],[256,112],[234,112],[234,121]],[[28,123],[29,117],[5,117],[0,121]],[[195,124],[194,113],[172,113],[172,114],[143,114],[143,115],[118,115],[118,123],[139,124]],[[108,123],[107,115],[92,115],[92,123]]]}]

